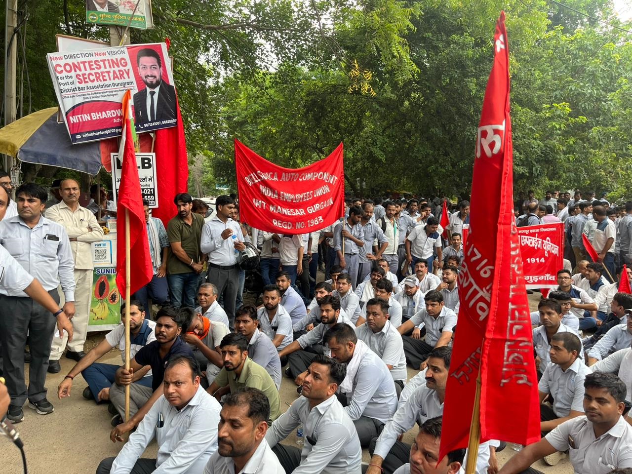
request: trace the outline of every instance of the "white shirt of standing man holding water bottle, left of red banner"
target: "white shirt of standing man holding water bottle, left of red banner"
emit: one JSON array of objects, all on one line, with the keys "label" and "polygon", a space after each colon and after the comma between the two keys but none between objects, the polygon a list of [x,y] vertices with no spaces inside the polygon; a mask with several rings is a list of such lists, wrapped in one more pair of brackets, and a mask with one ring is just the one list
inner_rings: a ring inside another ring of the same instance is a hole
[{"label": "white shirt of standing man holding water bottle, left of red banner", "polygon": [[[232,229],[233,234],[228,239],[222,238],[222,232]],[[233,235],[236,238],[233,238]],[[243,242],[243,234],[240,225],[233,219],[228,219],[226,223],[219,217],[211,217],[209,222],[202,228],[200,238],[200,252],[209,255],[209,263],[228,267],[237,263],[237,253],[235,252],[234,241]]]}]

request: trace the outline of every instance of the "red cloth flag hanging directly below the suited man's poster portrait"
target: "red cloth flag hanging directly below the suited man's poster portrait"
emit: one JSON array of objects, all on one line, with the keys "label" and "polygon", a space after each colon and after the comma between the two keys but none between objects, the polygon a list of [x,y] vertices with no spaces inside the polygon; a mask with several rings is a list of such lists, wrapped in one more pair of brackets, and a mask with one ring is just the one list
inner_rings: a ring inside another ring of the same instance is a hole
[{"label": "red cloth flag hanging directly below the suited man's poster portrait", "polygon": [[189,164],[186,158],[185,128],[176,96],[178,125],[155,131],[156,169],[158,173],[158,207],[152,216],[161,219],[164,226],[176,215],[173,198],[188,190]]}]

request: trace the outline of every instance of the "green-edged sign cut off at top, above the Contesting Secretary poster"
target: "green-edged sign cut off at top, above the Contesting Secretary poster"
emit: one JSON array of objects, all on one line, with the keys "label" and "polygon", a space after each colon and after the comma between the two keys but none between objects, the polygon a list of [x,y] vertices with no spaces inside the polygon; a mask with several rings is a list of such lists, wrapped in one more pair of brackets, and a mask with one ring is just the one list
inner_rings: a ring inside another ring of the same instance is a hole
[{"label": "green-edged sign cut off at top, above the Contesting Secretary poster", "polygon": [[154,27],[151,0],[85,0],[85,9],[88,23],[141,30]]}]

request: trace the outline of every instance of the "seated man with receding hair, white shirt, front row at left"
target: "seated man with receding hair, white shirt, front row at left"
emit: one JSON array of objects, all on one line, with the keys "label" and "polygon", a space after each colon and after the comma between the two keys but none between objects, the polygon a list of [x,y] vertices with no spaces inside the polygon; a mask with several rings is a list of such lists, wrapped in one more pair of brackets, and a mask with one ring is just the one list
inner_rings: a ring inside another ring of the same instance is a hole
[{"label": "seated man with receding hair, white shirt, front row at left", "polygon": [[[202,471],[217,450],[221,406],[200,386],[200,367],[190,356],[169,359],[162,385],[164,394],[138,424],[118,456],[100,462],[97,474]],[[111,439],[123,441],[123,437],[114,433]],[[154,439],[158,444],[157,457],[141,458]]]}]

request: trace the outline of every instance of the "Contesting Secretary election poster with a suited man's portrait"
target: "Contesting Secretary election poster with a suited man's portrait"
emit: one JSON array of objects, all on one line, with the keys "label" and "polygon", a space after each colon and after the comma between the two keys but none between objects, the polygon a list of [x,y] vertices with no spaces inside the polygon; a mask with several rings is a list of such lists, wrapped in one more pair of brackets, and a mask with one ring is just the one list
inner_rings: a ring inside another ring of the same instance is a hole
[{"label": "Contesting Secretary election poster with a suited man's portrait", "polygon": [[128,89],[138,133],[177,123],[176,89],[164,43],[51,52],[47,61],[72,143],[119,137]]}]

